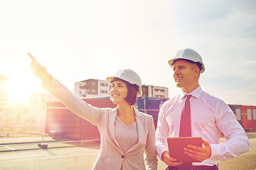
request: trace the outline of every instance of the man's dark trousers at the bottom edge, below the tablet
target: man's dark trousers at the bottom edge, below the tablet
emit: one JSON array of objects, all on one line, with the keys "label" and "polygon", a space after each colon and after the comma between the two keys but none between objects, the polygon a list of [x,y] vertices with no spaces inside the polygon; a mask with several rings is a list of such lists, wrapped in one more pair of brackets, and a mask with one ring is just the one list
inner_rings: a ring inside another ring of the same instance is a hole
[{"label": "man's dark trousers at the bottom edge, below the tablet", "polygon": [[181,164],[179,166],[168,166],[166,170],[218,170],[217,165],[213,166],[189,166],[186,164]]}]

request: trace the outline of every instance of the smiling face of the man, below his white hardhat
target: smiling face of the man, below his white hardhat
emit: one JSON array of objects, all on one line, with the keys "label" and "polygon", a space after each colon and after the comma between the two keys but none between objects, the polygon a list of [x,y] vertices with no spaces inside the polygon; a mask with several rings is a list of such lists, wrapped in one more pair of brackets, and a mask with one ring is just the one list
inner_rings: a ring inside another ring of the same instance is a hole
[{"label": "smiling face of the man, below his white hardhat", "polygon": [[176,86],[188,93],[191,92],[191,89],[197,88],[198,74],[196,70],[199,70],[199,68],[196,67],[196,64],[187,62],[186,60],[177,60],[174,63],[173,69]]}]

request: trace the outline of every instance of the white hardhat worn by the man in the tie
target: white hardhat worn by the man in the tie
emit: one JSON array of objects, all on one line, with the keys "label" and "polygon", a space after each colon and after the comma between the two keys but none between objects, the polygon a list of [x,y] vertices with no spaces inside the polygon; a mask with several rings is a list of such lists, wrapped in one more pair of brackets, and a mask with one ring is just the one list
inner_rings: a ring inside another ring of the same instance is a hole
[{"label": "white hardhat worn by the man in the tie", "polygon": [[199,62],[201,64],[201,68],[200,68],[201,73],[203,73],[205,71],[202,57],[195,50],[186,48],[184,50],[178,51],[175,58],[172,60],[169,60],[169,65],[171,67],[174,67],[174,62],[178,59],[190,60],[192,62]]}]

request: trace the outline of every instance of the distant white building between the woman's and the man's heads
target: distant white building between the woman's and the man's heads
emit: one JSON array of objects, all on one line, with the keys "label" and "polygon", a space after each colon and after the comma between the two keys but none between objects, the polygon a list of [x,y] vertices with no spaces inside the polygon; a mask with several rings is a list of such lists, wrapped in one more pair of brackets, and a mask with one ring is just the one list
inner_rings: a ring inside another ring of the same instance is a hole
[{"label": "distant white building between the woman's and the man's heads", "polygon": [[142,85],[142,96],[152,98],[169,98],[168,88],[162,86]]}]

